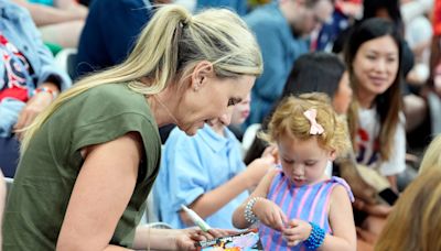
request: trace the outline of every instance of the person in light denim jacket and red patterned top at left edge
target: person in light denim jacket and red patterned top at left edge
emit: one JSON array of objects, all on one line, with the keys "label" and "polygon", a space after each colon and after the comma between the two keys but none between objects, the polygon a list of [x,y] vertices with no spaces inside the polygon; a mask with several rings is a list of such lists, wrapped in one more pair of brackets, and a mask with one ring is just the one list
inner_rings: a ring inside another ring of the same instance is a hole
[{"label": "person in light denim jacket and red patterned top at left edge", "polygon": [[41,40],[29,12],[0,0],[0,167],[13,177],[22,130],[71,86]]}]

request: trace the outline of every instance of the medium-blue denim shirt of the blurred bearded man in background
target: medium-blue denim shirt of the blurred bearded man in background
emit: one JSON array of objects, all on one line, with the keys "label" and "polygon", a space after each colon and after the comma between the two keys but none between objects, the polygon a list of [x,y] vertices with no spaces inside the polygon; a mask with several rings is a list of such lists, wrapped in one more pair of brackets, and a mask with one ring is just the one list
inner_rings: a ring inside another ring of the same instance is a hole
[{"label": "medium-blue denim shirt of the blurred bearded man in background", "polygon": [[281,96],[294,61],[308,52],[308,42],[297,39],[277,2],[257,8],[245,21],[255,32],[263,57],[263,73],[251,90],[251,110],[244,126],[261,123]]}]

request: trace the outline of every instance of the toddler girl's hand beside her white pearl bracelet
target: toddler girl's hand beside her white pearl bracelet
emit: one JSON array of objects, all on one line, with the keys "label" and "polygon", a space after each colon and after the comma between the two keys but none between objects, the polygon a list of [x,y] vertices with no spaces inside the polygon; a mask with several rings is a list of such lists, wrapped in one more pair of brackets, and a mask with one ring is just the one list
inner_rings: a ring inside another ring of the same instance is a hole
[{"label": "toddler girl's hand beside her white pearl bracelet", "polygon": [[252,211],[260,222],[275,230],[283,230],[287,216],[282,209],[271,200],[266,198],[258,199],[252,207]]}]

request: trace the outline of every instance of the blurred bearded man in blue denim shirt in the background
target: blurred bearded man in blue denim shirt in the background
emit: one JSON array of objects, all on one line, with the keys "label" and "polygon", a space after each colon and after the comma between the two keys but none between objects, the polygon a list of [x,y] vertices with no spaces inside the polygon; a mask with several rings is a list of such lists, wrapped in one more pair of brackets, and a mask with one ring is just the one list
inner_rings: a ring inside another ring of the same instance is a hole
[{"label": "blurred bearded man in blue denim shirt in the background", "polygon": [[251,91],[251,112],[244,129],[261,123],[270,112],[295,59],[309,51],[309,35],[330,20],[333,10],[331,0],[282,0],[244,17],[257,36],[265,64]]}]

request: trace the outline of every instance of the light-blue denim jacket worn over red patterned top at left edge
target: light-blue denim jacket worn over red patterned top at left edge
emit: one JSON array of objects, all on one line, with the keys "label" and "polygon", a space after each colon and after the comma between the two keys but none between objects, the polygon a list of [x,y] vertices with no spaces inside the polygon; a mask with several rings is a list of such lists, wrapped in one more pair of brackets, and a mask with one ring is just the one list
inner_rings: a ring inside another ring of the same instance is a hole
[{"label": "light-blue denim jacket worn over red patterned top at left edge", "polygon": [[[26,58],[32,73],[26,77],[29,96],[33,90],[51,79],[61,90],[67,89],[72,81],[67,74],[54,64],[52,53],[43,44],[41,35],[28,10],[9,0],[0,0],[0,31]],[[0,79],[7,74],[3,59],[0,61]],[[7,83],[0,81],[0,89]],[[0,137],[11,135],[12,126],[24,103],[20,100],[0,102]]]}]

